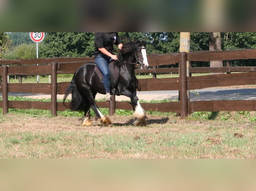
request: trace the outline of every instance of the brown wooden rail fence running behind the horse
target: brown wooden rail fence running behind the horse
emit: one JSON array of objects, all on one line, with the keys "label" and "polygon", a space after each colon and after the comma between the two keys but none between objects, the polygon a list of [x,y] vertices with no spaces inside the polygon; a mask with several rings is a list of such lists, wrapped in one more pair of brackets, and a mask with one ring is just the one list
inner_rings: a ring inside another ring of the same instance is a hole
[{"label": "brown wooden rail fence running behind the horse", "polygon": [[[178,90],[179,101],[165,103],[141,103],[146,111],[177,112],[181,118],[195,111],[255,111],[256,100],[211,100],[211,101],[190,101],[187,91],[221,87],[256,84],[256,67],[231,67],[231,60],[256,59],[256,49],[235,50],[235,51],[199,51],[179,54],[150,54],[148,62],[150,69],[139,70],[135,73],[152,73],[152,79],[140,79],[141,91],[163,91]],[[186,61],[226,61],[226,67],[220,68],[192,68],[189,73],[225,73],[208,76],[187,76]],[[65,90],[70,82],[57,83],[57,74],[74,74],[83,64],[94,61],[94,58],[40,58],[26,60],[0,60],[0,93],[3,100],[0,107],[3,114],[8,113],[8,108],[17,109],[48,109],[52,115],[57,115],[57,111],[69,109],[69,103],[65,107],[62,102],[57,102],[57,95],[65,94]],[[179,64],[178,68],[160,68],[163,65]],[[9,67],[8,67],[9,66]],[[242,72],[233,73],[232,72]],[[179,73],[178,78],[156,78],[157,73]],[[9,84],[8,75],[51,75],[51,83],[36,84]],[[8,92],[50,94],[51,102],[41,101],[10,101]],[[109,114],[115,114],[115,109],[132,110],[128,102],[113,101],[98,102],[99,107],[109,108]]]}]

